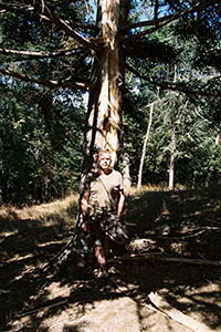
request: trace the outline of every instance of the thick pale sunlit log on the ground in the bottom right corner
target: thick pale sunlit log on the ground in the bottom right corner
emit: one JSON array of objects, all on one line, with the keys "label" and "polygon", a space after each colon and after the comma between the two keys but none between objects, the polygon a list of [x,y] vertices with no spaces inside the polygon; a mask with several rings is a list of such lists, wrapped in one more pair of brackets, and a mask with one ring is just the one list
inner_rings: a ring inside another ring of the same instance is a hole
[{"label": "thick pale sunlit log on the ground in the bottom right corner", "polygon": [[203,323],[200,323],[200,322],[196,321],[194,319],[183,314],[181,311],[172,308],[167,302],[165,297],[162,297],[161,294],[159,294],[157,292],[151,292],[151,293],[149,293],[148,298],[155,307],[157,307],[160,311],[166,313],[170,319],[191,329],[192,331],[194,331],[194,332],[212,332],[213,331],[210,328],[208,328],[207,325],[204,325]]}]

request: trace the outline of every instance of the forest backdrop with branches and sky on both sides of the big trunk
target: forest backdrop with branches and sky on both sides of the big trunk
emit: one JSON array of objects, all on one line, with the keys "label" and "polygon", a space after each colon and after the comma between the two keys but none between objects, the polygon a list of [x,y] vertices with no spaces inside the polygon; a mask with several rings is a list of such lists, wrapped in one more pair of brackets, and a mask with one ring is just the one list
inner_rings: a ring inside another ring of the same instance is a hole
[{"label": "forest backdrop with branches and sky on both sides of the big trunk", "polygon": [[[1,205],[78,190],[102,2],[0,1]],[[123,3],[118,168],[138,186],[219,183],[219,1]]]}]

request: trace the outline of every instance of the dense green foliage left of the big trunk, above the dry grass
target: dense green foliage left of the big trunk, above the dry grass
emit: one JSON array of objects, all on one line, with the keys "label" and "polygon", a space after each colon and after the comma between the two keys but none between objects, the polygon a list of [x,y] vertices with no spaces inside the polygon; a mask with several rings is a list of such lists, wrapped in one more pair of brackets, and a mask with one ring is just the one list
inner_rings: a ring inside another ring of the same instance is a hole
[{"label": "dense green foliage left of the big trunk, above the dry grass", "polygon": [[85,121],[81,100],[74,107],[69,94],[63,100],[46,95],[53,103],[45,102],[44,113],[42,101],[28,107],[19,100],[23,89],[17,89],[9,90],[0,104],[2,203],[49,201],[76,190]]}]

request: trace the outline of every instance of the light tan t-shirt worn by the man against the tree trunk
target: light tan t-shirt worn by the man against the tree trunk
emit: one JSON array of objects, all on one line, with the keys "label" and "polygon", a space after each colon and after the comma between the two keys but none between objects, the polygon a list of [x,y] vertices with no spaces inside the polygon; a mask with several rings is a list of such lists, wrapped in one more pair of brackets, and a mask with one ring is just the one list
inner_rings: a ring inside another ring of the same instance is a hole
[{"label": "light tan t-shirt worn by the man against the tree trunk", "polygon": [[88,206],[95,212],[116,212],[119,190],[124,189],[123,176],[113,169],[108,175],[99,175],[87,183]]}]

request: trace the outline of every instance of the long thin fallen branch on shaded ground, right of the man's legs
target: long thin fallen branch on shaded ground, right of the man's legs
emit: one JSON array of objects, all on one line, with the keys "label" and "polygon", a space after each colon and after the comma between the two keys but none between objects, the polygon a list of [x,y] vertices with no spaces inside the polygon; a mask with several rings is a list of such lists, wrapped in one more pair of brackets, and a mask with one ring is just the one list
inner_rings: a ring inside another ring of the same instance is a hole
[{"label": "long thin fallen branch on shaded ground, right of the man's legs", "polygon": [[108,259],[109,262],[116,262],[120,260],[160,260],[160,261],[169,261],[169,262],[180,262],[180,263],[188,263],[188,264],[206,264],[206,266],[217,266],[221,267],[220,260],[207,260],[207,259],[192,259],[192,258],[183,258],[183,257],[166,257],[162,256],[161,252],[144,252],[144,253],[131,253],[119,256],[115,258]]}]

